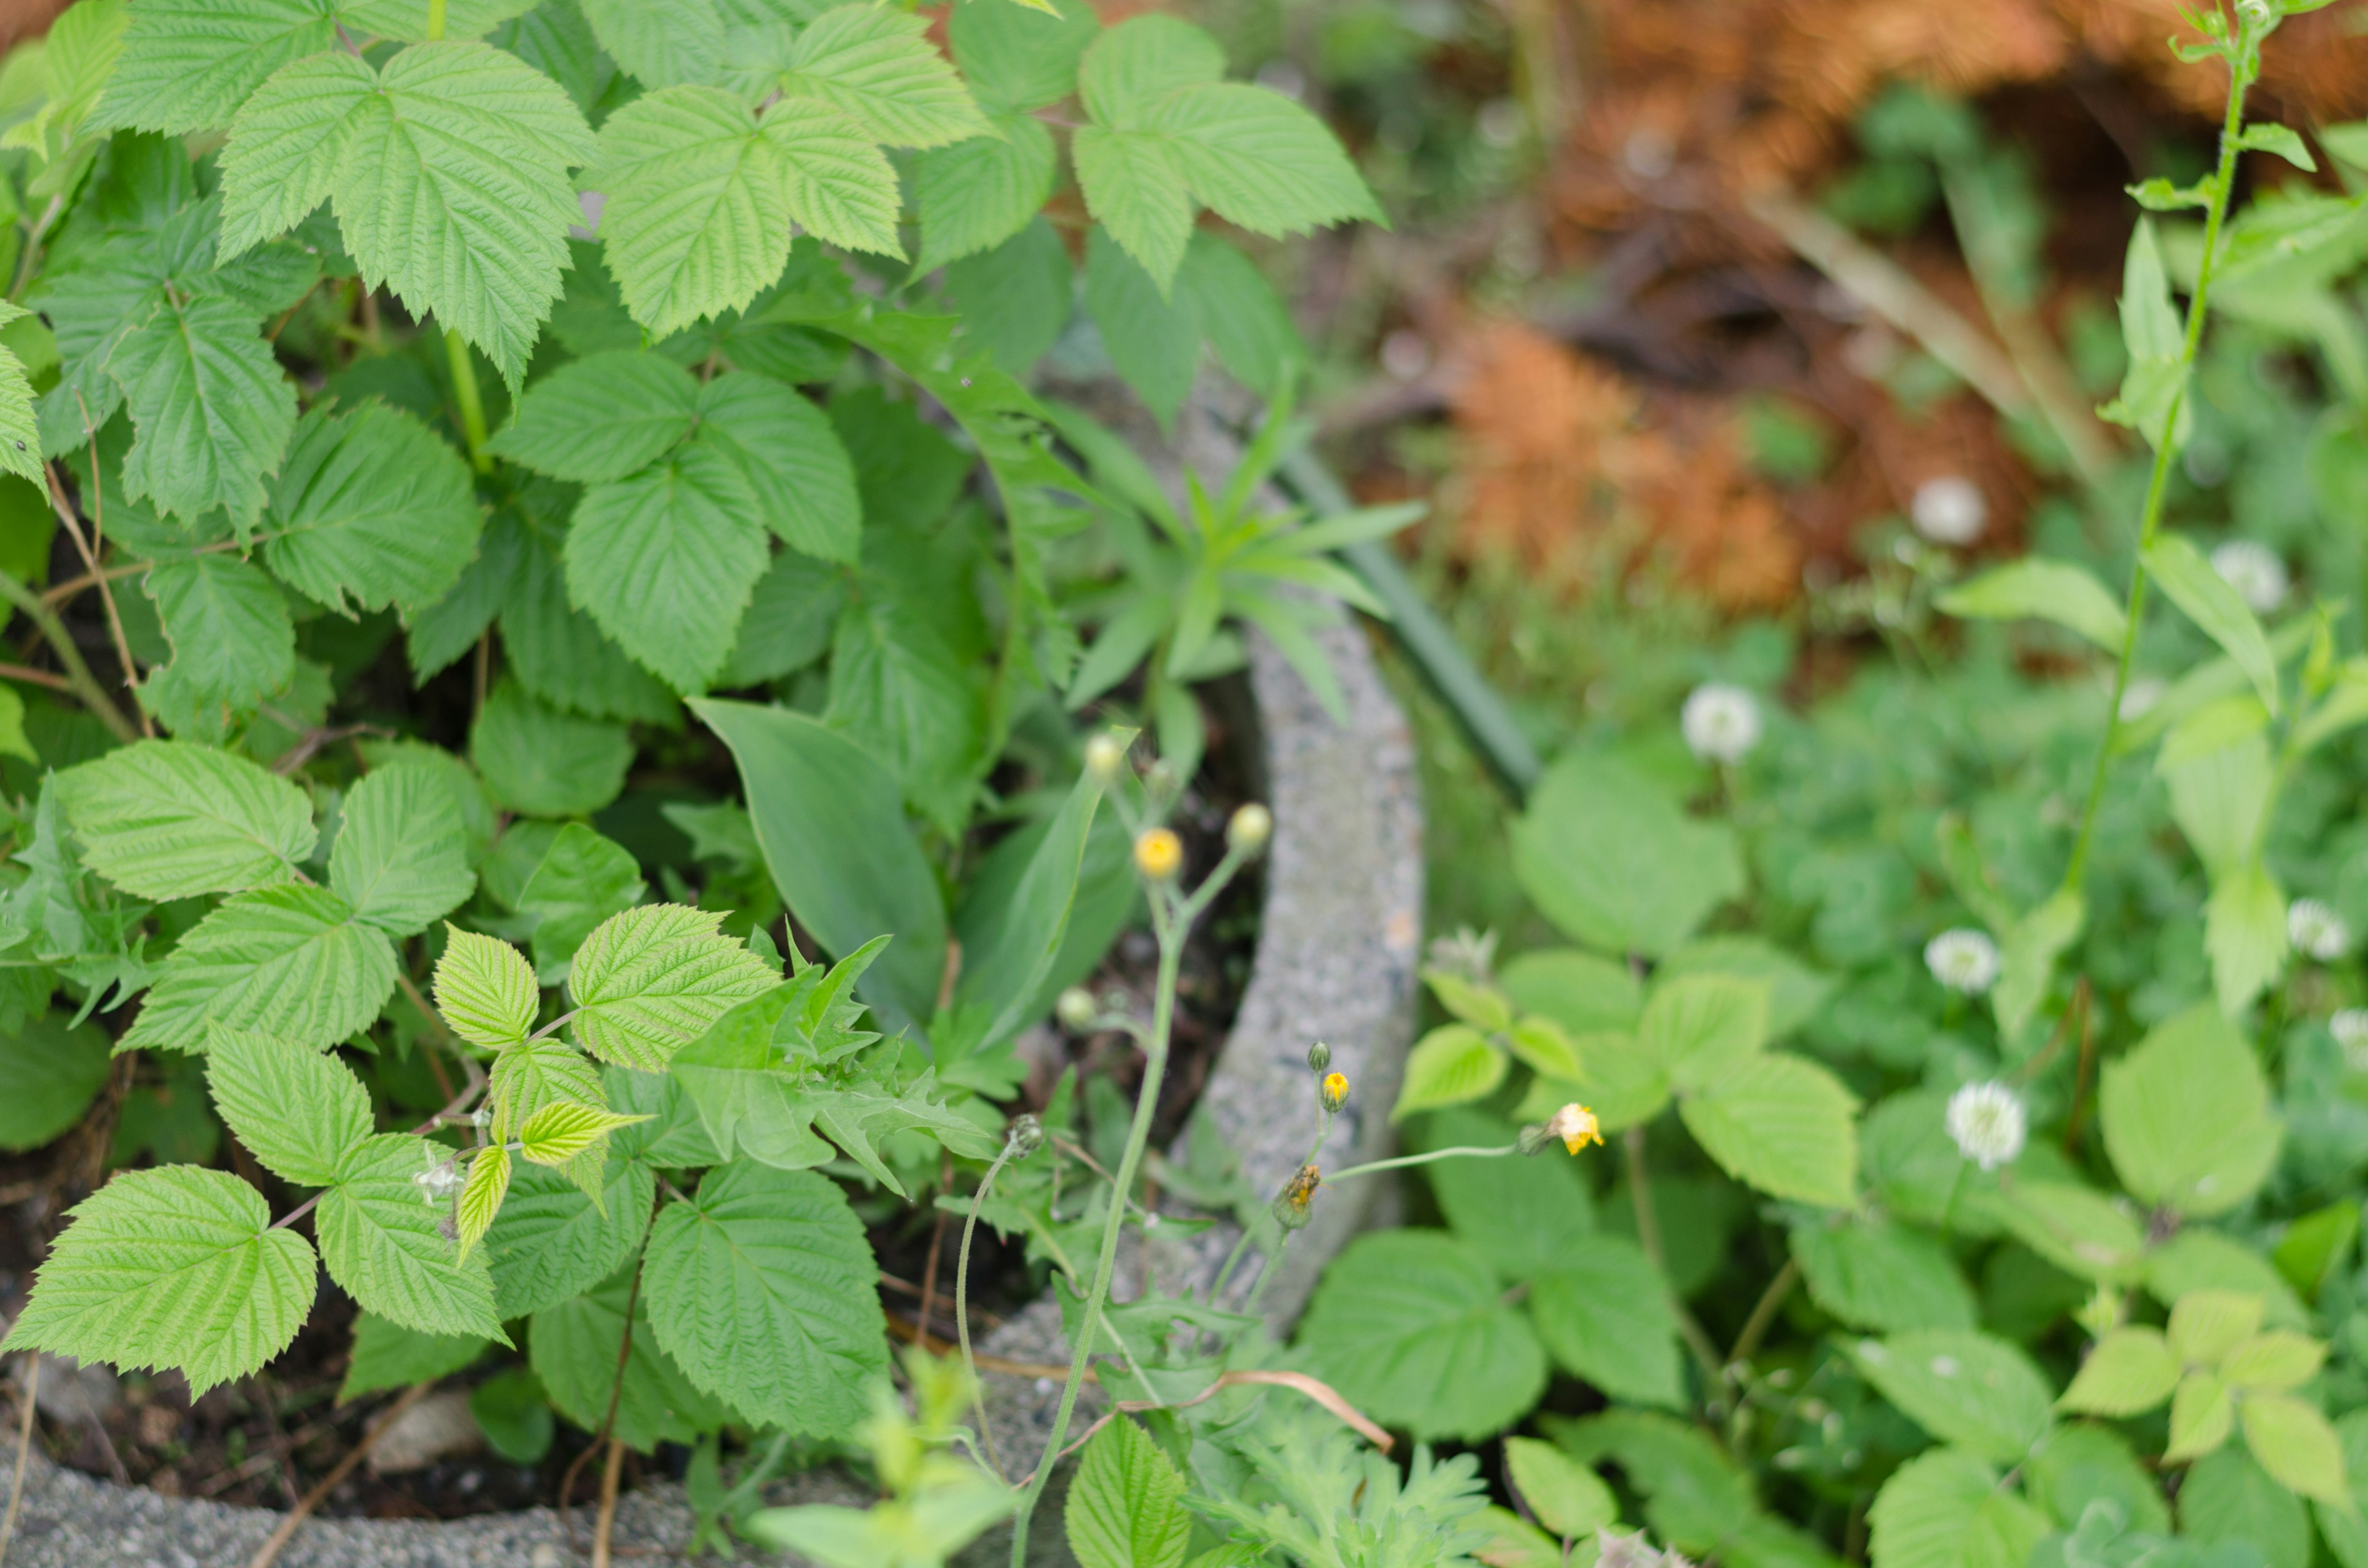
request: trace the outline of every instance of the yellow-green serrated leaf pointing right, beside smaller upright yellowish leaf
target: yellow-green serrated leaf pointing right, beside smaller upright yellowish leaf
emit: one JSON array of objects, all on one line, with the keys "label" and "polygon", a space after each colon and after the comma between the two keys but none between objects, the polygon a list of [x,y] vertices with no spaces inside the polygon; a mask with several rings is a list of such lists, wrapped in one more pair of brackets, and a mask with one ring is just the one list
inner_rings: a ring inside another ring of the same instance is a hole
[{"label": "yellow-green serrated leaf pointing right, beside smaller upright yellowish leaf", "polygon": [[568,973],[575,1037],[597,1056],[656,1073],[736,1002],[781,983],[720,910],[644,905],[601,921]]}]

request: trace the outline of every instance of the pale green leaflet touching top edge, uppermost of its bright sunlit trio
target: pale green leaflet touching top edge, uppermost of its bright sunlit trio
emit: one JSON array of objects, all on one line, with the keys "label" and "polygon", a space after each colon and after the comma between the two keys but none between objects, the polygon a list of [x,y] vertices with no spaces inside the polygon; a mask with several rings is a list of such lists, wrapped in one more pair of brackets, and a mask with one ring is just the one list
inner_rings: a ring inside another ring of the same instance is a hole
[{"label": "pale green leaflet touching top edge, uppermost of its bright sunlit trio", "polygon": [[798,33],[781,90],[819,97],[893,147],[942,147],[987,130],[928,19],[888,5],[841,5]]}]

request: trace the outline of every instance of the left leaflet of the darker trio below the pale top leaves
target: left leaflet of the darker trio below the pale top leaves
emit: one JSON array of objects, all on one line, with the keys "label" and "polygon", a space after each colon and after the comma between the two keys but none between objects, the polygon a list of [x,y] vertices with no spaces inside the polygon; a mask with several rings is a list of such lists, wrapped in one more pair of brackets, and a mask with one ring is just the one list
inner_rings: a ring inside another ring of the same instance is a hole
[{"label": "left leaflet of the darker trio below the pale top leaves", "polygon": [[[616,121],[646,107],[618,109]],[[625,478],[691,433],[699,381],[663,353],[618,348],[561,365],[526,388],[493,450],[552,478]]]}]

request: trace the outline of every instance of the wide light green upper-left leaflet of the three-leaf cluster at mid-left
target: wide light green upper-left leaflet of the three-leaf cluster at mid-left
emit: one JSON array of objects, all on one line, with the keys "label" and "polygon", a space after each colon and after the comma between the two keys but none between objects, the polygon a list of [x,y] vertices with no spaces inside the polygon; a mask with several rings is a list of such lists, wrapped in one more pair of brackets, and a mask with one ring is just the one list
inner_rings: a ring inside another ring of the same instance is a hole
[{"label": "wide light green upper-left leaflet of the three-leaf cluster at mid-left", "polygon": [[83,862],[140,898],[289,881],[313,808],[287,779],[208,746],[140,741],[57,777]]}]

